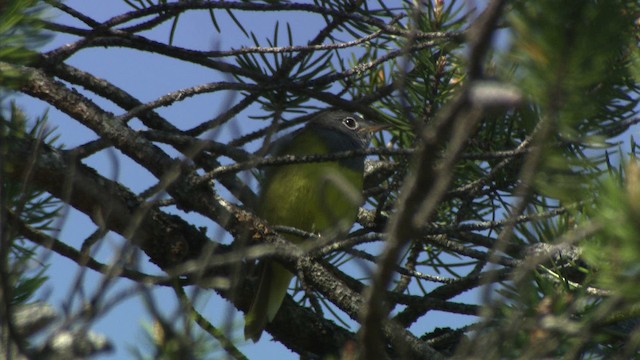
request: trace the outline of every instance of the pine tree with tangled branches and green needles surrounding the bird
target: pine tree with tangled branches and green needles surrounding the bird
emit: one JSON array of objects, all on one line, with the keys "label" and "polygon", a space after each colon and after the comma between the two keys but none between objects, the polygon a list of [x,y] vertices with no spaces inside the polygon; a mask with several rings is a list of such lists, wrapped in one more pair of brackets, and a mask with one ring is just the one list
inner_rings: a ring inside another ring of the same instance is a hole
[{"label": "pine tree with tangled branches and green needles surrounding the bird", "polygon": [[[128,11],[96,20],[46,1],[67,22],[27,3],[0,4],[20,9],[0,11],[2,104],[40,99],[95,136],[65,148],[51,137],[64,128],[42,136],[42,122],[17,121],[15,106],[2,113],[0,228],[22,239],[2,237],[3,317],[7,290],[20,285],[7,280],[20,261],[6,249],[30,259],[46,248],[47,261],[102,274],[104,294],[71,311],[79,327],[110,315],[117,302],[105,294],[126,278],[154,319],[152,349],[136,348],[138,357],[244,358],[241,322],[213,320],[230,310],[208,314],[200,298],[215,292],[247,311],[254,262],[271,258],[297,280],[267,332],[302,358],[637,356],[638,2],[125,0]],[[272,33],[256,30],[256,14],[277,16]],[[208,34],[189,33],[199,15]],[[37,50],[44,34],[74,40]],[[185,40],[198,36],[221,41]],[[245,42],[225,42],[232,37]],[[73,62],[92,51],[128,56],[121,49],[210,77],[141,100]],[[208,101],[213,117],[190,101]],[[300,230],[252,213],[255,184],[266,167],[327,160],[264,156],[326,108],[389,128],[367,150],[366,204],[350,234],[300,248],[278,235]],[[95,165],[105,154],[133,163],[127,175],[150,174],[146,189]],[[64,211],[38,218],[27,206],[43,202],[85,214],[93,234],[73,246],[51,227]],[[124,241],[107,263],[97,251],[109,233]],[[37,288],[45,274],[23,279]],[[157,306],[160,287],[173,290],[177,317]]]}]

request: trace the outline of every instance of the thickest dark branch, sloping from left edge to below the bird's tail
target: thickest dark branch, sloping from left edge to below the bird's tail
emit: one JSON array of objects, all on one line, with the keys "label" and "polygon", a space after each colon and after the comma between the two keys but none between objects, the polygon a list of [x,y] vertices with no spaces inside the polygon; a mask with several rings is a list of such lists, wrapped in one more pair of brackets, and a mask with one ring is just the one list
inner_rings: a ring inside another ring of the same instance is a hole
[{"label": "thickest dark branch, sloping from left edge to below the bird's tail", "polygon": [[[130,233],[132,222],[136,223],[137,218],[138,225],[130,239],[161,268],[168,270],[188,259],[197,259],[203,246],[209,243],[202,232],[178,216],[165,214],[153,206],[140,213],[142,203],[135,194],[74,161],[69,153],[35,140],[15,137],[5,140],[11,145],[10,153],[13,155],[5,162],[11,169],[7,174],[11,180],[47,191],[85,213],[97,224],[122,235]],[[224,245],[217,249],[229,250]],[[229,276],[232,269],[235,268],[226,264],[216,268],[215,274]],[[96,270],[100,270],[100,266]],[[311,275],[310,279],[313,278]],[[218,292],[239,309],[246,310],[254,288],[246,282],[236,289],[236,294]],[[294,351],[339,353],[344,343],[353,339],[352,333],[292,300],[285,301],[282,310],[286,315],[277,318],[268,329],[278,341]],[[331,336],[319,338],[318,334]]]}]

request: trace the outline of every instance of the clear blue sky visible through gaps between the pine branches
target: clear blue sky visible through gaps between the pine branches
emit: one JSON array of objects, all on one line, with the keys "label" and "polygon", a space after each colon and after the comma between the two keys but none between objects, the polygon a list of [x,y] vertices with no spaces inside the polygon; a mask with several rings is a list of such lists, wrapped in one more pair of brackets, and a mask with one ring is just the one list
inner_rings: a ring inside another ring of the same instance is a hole
[{"label": "clear blue sky visible through gaps between the pine branches", "polygon": [[[390,2],[391,3],[391,2]],[[113,15],[121,14],[130,10],[123,1],[104,1],[104,0],[74,0],[66,1],[65,4],[75,8],[81,13],[87,14],[95,20],[103,21]],[[291,13],[287,13],[292,15]],[[281,22],[281,30],[284,22],[289,22],[294,29],[294,42],[296,44],[305,44],[306,41],[316,34],[316,31],[322,25],[317,18],[311,18],[304,14],[295,14],[290,18],[280,18],[282,14],[268,13],[237,13],[239,20],[243,24],[248,24],[251,31],[254,31],[259,40],[264,41],[273,34],[273,27],[276,21]],[[51,19],[74,26],[82,27],[77,20],[66,15],[52,13]],[[178,46],[200,49],[229,49],[231,47],[238,48],[240,45],[253,45],[234,25],[228,16],[220,13],[217,17],[222,33],[217,33],[213,28],[208,14],[206,12],[191,12],[181,17],[176,32],[175,43]],[[166,41],[169,36],[170,23],[145,33],[146,36]],[[286,38],[286,37],[283,37]],[[57,48],[66,43],[73,42],[74,37],[58,36],[54,38],[45,49]],[[264,43],[266,44],[266,42]],[[100,78],[107,79],[116,86],[121,87],[142,102],[154,100],[169,92],[199,85],[208,82],[225,80],[219,73],[212,72],[209,69],[199,67],[192,64],[185,64],[163,56],[148,54],[128,49],[116,48],[93,48],[83,50],[71,57],[68,61],[72,66],[78,67],[84,71],[88,71]],[[122,114],[123,110],[101,99],[83,89],[77,89],[86,96],[94,99],[94,101],[108,111],[116,115]],[[223,110],[229,94],[216,93],[204,94],[189,98],[172,104],[167,108],[160,108],[157,111],[166,119],[171,121],[179,128],[186,129],[203,121],[215,117],[216,114]],[[18,100],[19,105],[31,117],[42,114],[45,109],[49,111],[49,124],[56,127],[56,134],[60,135],[59,143],[63,143],[66,147],[74,147],[87,141],[95,139],[97,136],[89,129],[80,125],[73,119],[69,119],[67,115],[59,112],[54,108],[50,108],[47,104],[21,96]],[[243,116],[252,114],[260,114],[259,109],[253,108],[242,113]],[[216,140],[226,141],[238,132],[247,133],[251,129],[255,129],[259,125],[256,121],[249,120],[247,117],[234,119],[225,129],[225,131],[216,134]],[[132,122],[134,128],[140,128],[141,125],[137,120]],[[255,147],[256,144],[253,144]],[[249,149],[250,150],[250,149]],[[177,153],[171,152],[177,156]],[[101,152],[85,160],[90,166],[95,167],[99,172],[107,177],[114,178],[135,192],[142,191],[155,183],[155,179],[140,166],[137,166],[128,158],[122,156],[117,151]],[[222,233],[220,229],[210,220],[194,214],[183,214],[178,210],[175,213],[185,216],[188,221],[196,226],[203,226],[208,229],[207,234],[214,239],[220,239]],[[68,217],[59,223],[61,232],[59,238],[65,243],[79,248],[82,241],[89,236],[94,230],[94,226],[84,214],[75,210],[70,210]],[[225,235],[222,235],[225,236]],[[118,253],[122,245],[122,240],[116,234],[110,233],[102,244],[100,250],[95,257],[102,262],[109,263],[114,260],[114,255]],[[159,269],[148,263],[144,255],[141,256],[142,270],[149,273],[160,273]],[[57,256],[51,255],[49,258],[49,276],[50,280],[46,283],[45,288],[41,292],[41,298],[56,307],[66,303],[73,279],[78,273],[78,267],[75,263]],[[88,294],[95,291],[102,277],[99,274],[89,271],[83,281]],[[134,287],[135,284],[128,280],[118,280],[116,284],[109,289],[108,298],[117,298],[121,296],[121,292]],[[175,295],[168,289],[156,288],[152,291],[154,299],[158,306],[171,319],[170,314],[176,312]],[[466,294],[461,296],[466,301],[475,299],[474,294]],[[458,298],[459,300],[460,298]],[[231,315],[232,333],[234,339],[239,340],[241,351],[249,358],[297,358],[287,350],[283,345],[271,341],[269,334],[265,334],[258,344],[243,343],[242,339],[242,316],[235,311],[233,306],[225,300],[218,297],[213,291],[204,291],[199,293],[198,305],[201,313],[207,317],[214,325],[221,326],[229,320]],[[78,306],[76,302],[74,304]],[[101,359],[122,359],[129,358],[131,354],[127,347],[141,348],[144,341],[142,325],[150,319],[147,309],[142,304],[140,297],[133,296],[113,307],[106,316],[98,319],[92,326],[92,330],[105,334],[116,345],[116,352],[101,356]],[[455,316],[451,314],[443,314],[433,312],[425,317],[415,327],[421,330],[431,329],[435,326],[456,326],[461,323],[468,323],[472,320],[469,317]],[[144,353],[144,348],[141,348]],[[218,358],[222,353],[212,354],[212,358]]]}]

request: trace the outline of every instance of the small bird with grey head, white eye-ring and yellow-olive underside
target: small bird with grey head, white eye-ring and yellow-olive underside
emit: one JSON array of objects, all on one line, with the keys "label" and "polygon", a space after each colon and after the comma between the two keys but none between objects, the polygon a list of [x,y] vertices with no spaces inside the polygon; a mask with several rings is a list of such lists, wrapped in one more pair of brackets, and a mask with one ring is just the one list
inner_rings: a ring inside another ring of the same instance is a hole
[{"label": "small bird with grey head, white eye-ring and yellow-olive underside", "polygon": [[[317,113],[303,128],[274,141],[272,156],[322,155],[369,146],[372,132],[386,125],[367,121],[346,111]],[[285,164],[269,167],[258,193],[256,214],[270,225],[331,235],[348,231],[363,202],[364,155],[333,161]],[[282,234],[302,244],[305,238]],[[258,290],[245,315],[244,336],[257,342],[271,322],[293,278],[275,260],[262,260]]]}]

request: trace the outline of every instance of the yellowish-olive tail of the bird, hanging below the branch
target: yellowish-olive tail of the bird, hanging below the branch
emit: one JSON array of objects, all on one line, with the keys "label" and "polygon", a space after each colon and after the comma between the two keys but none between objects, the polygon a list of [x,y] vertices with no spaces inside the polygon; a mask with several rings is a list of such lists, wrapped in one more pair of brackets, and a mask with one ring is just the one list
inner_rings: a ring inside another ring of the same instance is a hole
[{"label": "yellowish-olive tail of the bird, hanging below the branch", "polygon": [[266,261],[260,274],[260,284],[251,309],[244,317],[244,338],[253,342],[260,340],[262,331],[268,322],[276,317],[282,300],[287,294],[293,278],[282,265]]}]

